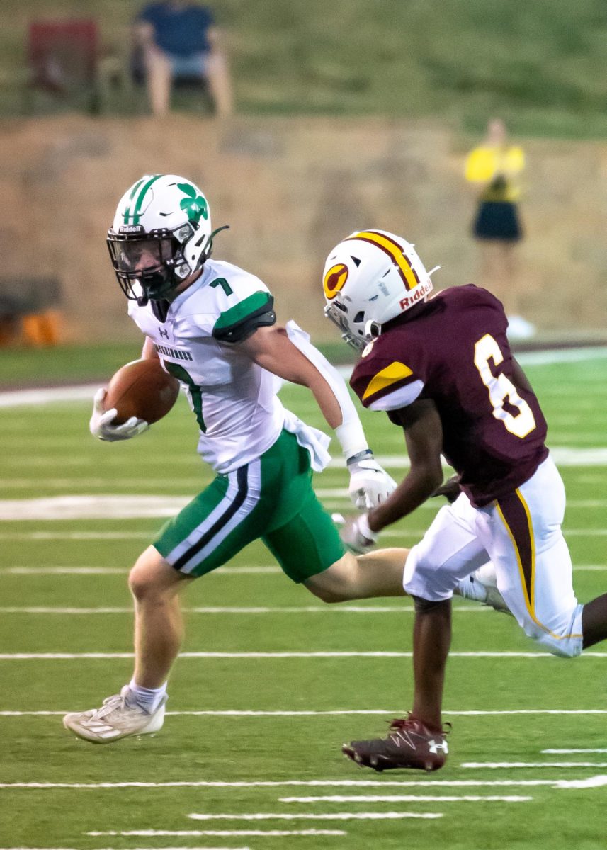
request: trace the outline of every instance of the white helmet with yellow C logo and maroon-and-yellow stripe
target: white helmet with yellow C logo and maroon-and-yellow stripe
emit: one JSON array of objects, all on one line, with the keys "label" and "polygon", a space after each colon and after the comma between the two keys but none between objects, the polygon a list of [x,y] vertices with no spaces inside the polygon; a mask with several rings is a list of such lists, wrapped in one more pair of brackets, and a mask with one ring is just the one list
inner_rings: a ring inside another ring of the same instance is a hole
[{"label": "white helmet with yellow C logo and maroon-and-yellow stripe", "polygon": [[365,348],[385,322],[425,300],[432,291],[431,274],[402,236],[357,230],[326,259],[325,315],[347,343]]}]

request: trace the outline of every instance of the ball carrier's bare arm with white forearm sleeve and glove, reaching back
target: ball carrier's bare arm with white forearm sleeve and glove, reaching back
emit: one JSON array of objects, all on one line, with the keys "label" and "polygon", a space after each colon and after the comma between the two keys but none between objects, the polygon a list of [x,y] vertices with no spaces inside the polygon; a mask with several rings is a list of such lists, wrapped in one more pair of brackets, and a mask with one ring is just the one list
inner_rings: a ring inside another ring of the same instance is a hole
[{"label": "ball carrier's bare arm with white forearm sleeve and glove, reaching back", "polygon": [[387,499],[396,482],[375,461],[343,377],[309,342],[308,335],[289,322],[286,328],[260,327],[238,345],[264,369],[308,387],[314,394],[342,446],[355,506],[368,510]]}]

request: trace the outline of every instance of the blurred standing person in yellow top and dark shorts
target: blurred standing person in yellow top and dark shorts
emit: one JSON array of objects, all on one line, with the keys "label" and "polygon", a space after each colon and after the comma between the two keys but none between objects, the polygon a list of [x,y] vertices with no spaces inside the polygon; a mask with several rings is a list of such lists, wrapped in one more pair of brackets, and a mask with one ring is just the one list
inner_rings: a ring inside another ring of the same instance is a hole
[{"label": "blurred standing person in yellow top and dark shorts", "polygon": [[521,315],[515,253],[523,235],[517,205],[519,178],[524,168],[522,148],[508,143],[506,125],[500,118],[491,119],[485,139],[468,154],[466,179],[480,187],[473,224],[473,234],[481,250],[480,283],[502,301],[508,316],[508,336],[512,339],[528,339],[536,331]]}]

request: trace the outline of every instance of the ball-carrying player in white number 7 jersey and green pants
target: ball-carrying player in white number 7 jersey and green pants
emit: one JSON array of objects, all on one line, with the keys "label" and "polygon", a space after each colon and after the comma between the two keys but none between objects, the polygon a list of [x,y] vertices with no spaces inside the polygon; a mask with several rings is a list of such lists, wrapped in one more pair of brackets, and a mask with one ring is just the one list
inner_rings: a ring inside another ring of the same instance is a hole
[{"label": "ball-carrying player in white number 7 jersey and green pants", "polygon": [[[219,228],[223,229],[223,228]],[[179,593],[188,580],[261,539],[293,581],[326,602],[403,595],[407,551],[346,552],[312,490],[329,438],[278,399],[281,380],[309,387],[341,445],[349,491],[361,511],[395,483],[369,449],[348,389],[294,322],[277,326],[273,298],[254,275],[211,259],[207,199],[190,180],[146,175],[122,196],[107,243],[129,314],[145,335],[144,358],[179,378],[200,429],[198,451],[217,477],[161,530],[129,576],[135,666],[120,694],[68,714],[65,728],[93,743],[162,727],[167,677],[179,653]],[[94,400],[95,437],[131,439],[148,427],[114,424]]]}]

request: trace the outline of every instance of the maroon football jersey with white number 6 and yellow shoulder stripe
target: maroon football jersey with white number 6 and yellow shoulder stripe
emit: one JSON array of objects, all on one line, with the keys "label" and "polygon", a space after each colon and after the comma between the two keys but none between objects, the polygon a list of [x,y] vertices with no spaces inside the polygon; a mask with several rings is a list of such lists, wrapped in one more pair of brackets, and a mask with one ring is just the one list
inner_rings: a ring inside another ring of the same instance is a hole
[{"label": "maroon football jersey with white number 6 and yellow shoulder stripe", "polygon": [[389,416],[434,401],[443,455],[476,507],[519,487],[547,456],[536,395],[513,384],[507,326],[491,292],[447,289],[384,326],[350,380],[365,407]]}]

